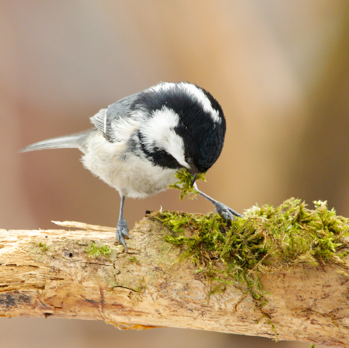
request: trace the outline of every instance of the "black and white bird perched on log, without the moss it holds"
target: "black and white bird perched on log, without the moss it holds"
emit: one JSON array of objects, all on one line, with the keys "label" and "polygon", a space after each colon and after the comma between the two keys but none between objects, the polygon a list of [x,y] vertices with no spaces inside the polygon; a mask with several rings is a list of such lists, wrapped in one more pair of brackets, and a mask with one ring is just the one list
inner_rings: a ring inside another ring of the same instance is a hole
[{"label": "black and white bird perched on log, without the moss it holds", "polygon": [[[226,129],[217,100],[188,82],[158,83],[101,109],[90,120],[92,129],[41,141],[21,151],[79,149],[84,167],[119,191],[116,236],[126,251],[125,197],[144,198],[166,190],[182,167],[193,175],[192,184],[198,190],[196,175],[206,172],[220,156]],[[226,220],[241,216],[198,191]]]}]

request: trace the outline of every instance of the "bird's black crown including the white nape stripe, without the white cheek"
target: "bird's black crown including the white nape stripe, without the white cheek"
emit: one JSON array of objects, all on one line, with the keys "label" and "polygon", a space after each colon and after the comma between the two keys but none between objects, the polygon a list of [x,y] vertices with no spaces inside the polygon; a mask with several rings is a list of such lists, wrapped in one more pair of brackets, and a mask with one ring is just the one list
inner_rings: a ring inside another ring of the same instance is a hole
[{"label": "bird's black crown including the white nape stripe, without the white cheek", "polygon": [[197,172],[206,172],[220,156],[225,118],[218,101],[206,90],[190,83],[160,83],[141,92],[134,105],[149,115],[164,106],[178,115],[174,131],[183,139],[185,157]]}]

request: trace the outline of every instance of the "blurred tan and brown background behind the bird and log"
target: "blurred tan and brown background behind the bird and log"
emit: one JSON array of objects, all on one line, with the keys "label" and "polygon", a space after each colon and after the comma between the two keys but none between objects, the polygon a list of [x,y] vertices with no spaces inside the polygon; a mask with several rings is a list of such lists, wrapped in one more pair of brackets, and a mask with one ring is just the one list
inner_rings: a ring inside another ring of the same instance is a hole
[{"label": "blurred tan and brown background behind the bird and log", "polygon": [[[243,212],[291,196],[349,216],[348,1],[1,1],[0,228],[51,220],[116,226],[119,195],[78,150],[18,153],[90,127],[100,108],[159,81],[209,90],[227,118],[207,194]],[[205,213],[167,191],[146,210]],[[0,347],[309,347],[179,329],[120,332],[102,322],[0,319]],[[317,346],[320,347],[320,346]]]}]

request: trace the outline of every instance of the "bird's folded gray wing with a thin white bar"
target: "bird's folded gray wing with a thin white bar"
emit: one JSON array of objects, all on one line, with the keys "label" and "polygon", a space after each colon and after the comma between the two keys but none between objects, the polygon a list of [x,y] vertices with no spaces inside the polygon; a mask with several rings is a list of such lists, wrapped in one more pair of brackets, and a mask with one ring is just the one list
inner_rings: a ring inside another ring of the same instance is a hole
[{"label": "bird's folded gray wing with a thin white bar", "polygon": [[[122,98],[116,103],[99,110],[90,121],[103,134],[107,141],[113,143],[117,141],[115,130],[112,127],[119,121],[126,121],[129,118],[134,118],[134,101],[137,99],[139,93]],[[131,121],[131,120],[130,120]]]}]

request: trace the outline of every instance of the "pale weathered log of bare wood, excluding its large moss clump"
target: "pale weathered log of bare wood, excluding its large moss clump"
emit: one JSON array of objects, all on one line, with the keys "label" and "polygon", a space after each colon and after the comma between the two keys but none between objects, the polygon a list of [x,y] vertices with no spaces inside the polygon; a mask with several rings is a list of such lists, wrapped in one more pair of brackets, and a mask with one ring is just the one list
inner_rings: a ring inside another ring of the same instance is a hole
[{"label": "pale weathered log of bare wood, excluding its large moss clump", "polygon": [[1,316],[349,345],[349,275],[339,264],[299,263],[262,275],[267,303],[258,307],[243,283],[212,293],[190,260],[179,262],[181,248],[164,240],[169,229],[151,216],[131,231],[129,254],[113,228],[63,225],[74,230],[0,230]]}]

